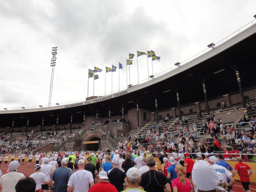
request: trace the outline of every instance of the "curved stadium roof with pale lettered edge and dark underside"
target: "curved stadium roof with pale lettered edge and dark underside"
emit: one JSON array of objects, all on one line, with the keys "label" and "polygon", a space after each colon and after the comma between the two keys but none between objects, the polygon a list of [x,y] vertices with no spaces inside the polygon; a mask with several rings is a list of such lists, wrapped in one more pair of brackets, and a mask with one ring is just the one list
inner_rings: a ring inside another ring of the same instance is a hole
[{"label": "curved stadium roof with pale lettered edge and dark underside", "polygon": [[[59,124],[67,124],[70,122],[71,113],[73,114],[73,123],[82,122],[84,111],[85,116],[92,116],[96,115],[98,109],[100,117],[107,117],[109,107],[111,116],[116,116],[121,115],[122,104],[127,113],[129,109],[136,108],[137,100],[139,108],[155,111],[155,95],[158,110],[164,110],[177,107],[177,90],[180,105],[204,101],[203,79],[208,99],[238,92],[235,70],[239,71],[243,89],[256,85],[255,44],[256,24],[175,70],[122,91],[121,96],[117,96],[115,93],[111,95],[111,99],[108,99],[109,96],[102,97],[99,98],[99,101],[87,101],[88,104],[83,101],[51,108],[0,111],[0,126],[10,126],[13,118],[16,119],[16,126],[25,126],[28,116],[30,126],[42,124],[43,116],[44,124],[56,124],[57,114],[59,115]],[[170,64],[170,67],[173,65]],[[72,105],[76,106],[72,107]]]}]

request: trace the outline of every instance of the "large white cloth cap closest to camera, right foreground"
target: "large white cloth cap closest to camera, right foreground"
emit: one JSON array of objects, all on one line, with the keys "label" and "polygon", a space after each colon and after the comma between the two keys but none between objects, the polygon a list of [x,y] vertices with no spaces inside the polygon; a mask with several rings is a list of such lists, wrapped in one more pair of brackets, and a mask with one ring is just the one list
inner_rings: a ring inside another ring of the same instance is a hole
[{"label": "large white cloth cap closest to camera, right foreground", "polygon": [[[211,182],[209,182],[211,178]],[[198,160],[192,170],[192,180],[196,188],[203,191],[209,191],[217,188],[220,183],[218,173],[209,162]]]}]

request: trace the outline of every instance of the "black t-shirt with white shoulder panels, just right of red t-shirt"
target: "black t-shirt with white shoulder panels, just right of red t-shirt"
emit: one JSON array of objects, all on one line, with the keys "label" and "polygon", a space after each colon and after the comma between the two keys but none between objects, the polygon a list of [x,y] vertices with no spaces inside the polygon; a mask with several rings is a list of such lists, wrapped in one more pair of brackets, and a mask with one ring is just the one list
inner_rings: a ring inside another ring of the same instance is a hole
[{"label": "black t-shirt with white shoulder panels, just right of red t-shirt", "polygon": [[124,170],[119,168],[113,168],[108,171],[108,179],[109,182],[114,185],[118,192],[124,190],[124,179],[126,178],[126,174]]}]

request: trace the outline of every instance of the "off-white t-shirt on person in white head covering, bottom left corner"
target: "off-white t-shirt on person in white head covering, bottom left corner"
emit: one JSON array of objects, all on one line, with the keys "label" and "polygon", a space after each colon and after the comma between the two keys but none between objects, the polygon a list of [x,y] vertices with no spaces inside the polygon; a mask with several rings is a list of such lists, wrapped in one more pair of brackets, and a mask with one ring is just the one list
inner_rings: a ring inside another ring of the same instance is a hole
[{"label": "off-white t-shirt on person in white head covering, bottom left corner", "polygon": [[1,176],[0,185],[2,185],[2,192],[15,192],[15,185],[20,179],[25,179],[22,173],[11,171]]}]

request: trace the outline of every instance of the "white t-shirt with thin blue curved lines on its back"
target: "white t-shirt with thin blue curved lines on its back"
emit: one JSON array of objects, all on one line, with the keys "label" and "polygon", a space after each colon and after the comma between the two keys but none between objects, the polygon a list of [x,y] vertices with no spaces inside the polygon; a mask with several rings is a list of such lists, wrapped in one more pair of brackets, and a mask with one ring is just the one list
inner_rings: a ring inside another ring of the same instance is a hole
[{"label": "white t-shirt with thin blue curved lines on its back", "polygon": [[74,192],[89,191],[89,184],[94,182],[92,173],[86,170],[78,170],[71,175],[68,186],[74,187]]}]

